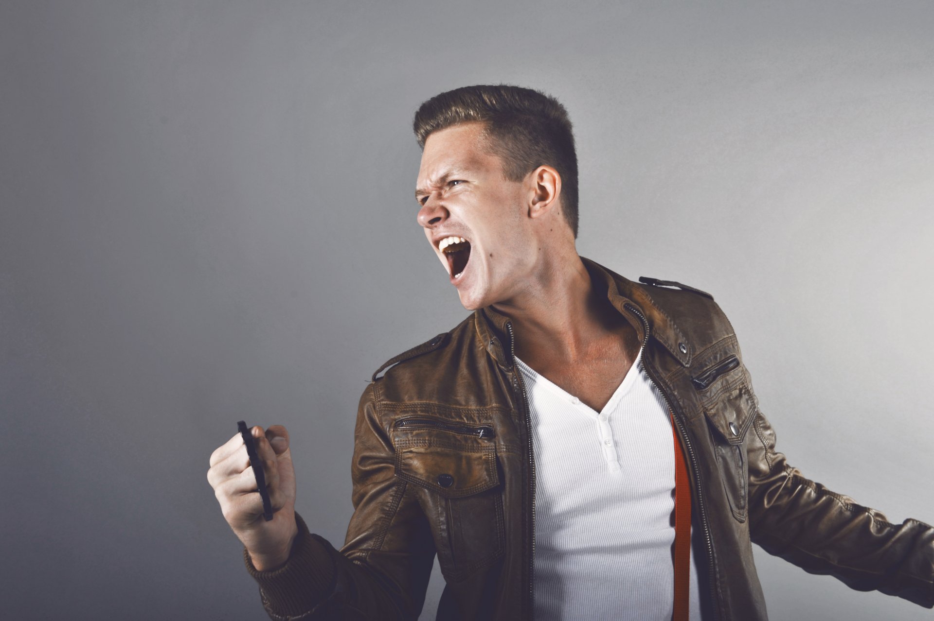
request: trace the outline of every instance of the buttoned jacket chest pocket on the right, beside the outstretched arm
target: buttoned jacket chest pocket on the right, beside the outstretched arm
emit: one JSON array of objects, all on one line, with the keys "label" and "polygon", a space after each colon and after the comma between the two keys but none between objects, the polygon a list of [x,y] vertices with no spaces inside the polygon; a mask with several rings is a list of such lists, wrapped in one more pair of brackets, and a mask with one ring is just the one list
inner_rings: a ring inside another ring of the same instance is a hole
[{"label": "buttoned jacket chest pocket on the right, beside the outstretched arm", "polygon": [[701,397],[704,418],[708,422],[714,456],[730,512],[740,522],[746,521],[749,487],[749,464],[745,438],[756,418],[756,402],[743,380],[742,366],[736,356],[729,356],[693,378]]}]

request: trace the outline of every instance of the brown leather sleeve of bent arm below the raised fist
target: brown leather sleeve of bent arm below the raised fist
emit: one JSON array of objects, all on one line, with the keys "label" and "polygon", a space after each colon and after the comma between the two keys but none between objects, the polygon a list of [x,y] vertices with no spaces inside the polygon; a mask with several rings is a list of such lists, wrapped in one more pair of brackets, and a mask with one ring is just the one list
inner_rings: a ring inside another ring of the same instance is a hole
[{"label": "brown leather sleeve of bent arm below the raised fist", "polygon": [[336,550],[299,534],[282,567],[259,572],[244,550],[271,619],[416,619],[432,572],[429,524],[407,484],[395,476],[394,450],[376,412],[376,388],[361,396],[351,467],[354,513]]}]

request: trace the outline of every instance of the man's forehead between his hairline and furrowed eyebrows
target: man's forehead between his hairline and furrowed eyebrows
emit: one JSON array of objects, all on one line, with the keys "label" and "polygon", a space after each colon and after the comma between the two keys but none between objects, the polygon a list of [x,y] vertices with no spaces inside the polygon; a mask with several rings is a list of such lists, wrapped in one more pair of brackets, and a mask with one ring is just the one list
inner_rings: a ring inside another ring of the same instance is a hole
[{"label": "man's forehead between his hairline and furrowed eyebrows", "polygon": [[425,141],[417,186],[431,186],[453,173],[500,170],[484,145],[482,123],[461,123],[433,132]]}]

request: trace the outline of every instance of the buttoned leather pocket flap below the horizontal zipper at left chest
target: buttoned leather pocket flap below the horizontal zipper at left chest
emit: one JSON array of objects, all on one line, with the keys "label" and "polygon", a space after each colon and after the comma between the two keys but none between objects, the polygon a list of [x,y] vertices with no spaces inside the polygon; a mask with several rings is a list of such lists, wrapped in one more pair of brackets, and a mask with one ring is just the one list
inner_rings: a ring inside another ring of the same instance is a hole
[{"label": "buttoned leather pocket flap below the horizontal zipper at left chest", "polygon": [[500,484],[493,447],[454,449],[426,443],[397,447],[396,476],[446,498],[469,496]]}]

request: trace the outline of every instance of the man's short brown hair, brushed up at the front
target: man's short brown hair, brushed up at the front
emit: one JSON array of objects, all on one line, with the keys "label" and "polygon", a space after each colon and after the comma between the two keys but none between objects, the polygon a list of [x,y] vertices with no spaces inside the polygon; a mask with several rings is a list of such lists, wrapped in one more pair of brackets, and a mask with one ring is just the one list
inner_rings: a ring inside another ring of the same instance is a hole
[{"label": "man's short brown hair, brushed up at the front", "polygon": [[577,237],[577,154],[568,111],[545,93],[500,84],[461,87],[435,95],[418,108],[412,129],[418,146],[434,131],[480,121],[490,151],[502,159],[510,181],[521,181],[539,166],[561,175],[561,208]]}]

